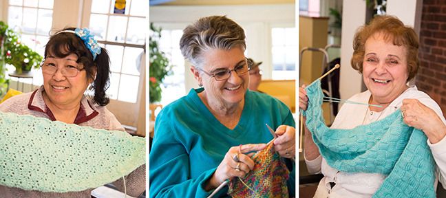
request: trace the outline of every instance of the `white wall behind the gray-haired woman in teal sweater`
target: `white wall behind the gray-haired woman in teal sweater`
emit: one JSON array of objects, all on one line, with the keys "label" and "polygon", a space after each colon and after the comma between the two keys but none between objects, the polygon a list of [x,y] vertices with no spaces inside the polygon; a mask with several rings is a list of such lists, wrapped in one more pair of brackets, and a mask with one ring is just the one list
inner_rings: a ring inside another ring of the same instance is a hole
[{"label": "white wall behind the gray-haired woman in teal sweater", "polygon": [[[167,29],[175,26],[184,29],[200,17],[211,15],[226,15],[246,30],[246,55],[254,60],[263,61],[264,79],[271,78],[272,69],[269,28],[280,24],[295,26],[295,4],[266,4],[266,5],[157,5],[149,10],[149,21],[156,26]],[[296,35],[298,36],[298,35]],[[185,63],[185,88],[198,87],[190,69],[190,63]]]}]

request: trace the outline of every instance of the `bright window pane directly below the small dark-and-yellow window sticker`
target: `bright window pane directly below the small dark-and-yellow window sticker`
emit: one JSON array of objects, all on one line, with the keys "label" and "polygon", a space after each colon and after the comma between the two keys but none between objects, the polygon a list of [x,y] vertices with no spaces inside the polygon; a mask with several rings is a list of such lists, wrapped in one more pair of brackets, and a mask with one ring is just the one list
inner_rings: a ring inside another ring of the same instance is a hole
[{"label": "bright window pane directly below the small dark-and-yellow window sticker", "polygon": [[107,41],[124,43],[127,17],[110,16]]}]

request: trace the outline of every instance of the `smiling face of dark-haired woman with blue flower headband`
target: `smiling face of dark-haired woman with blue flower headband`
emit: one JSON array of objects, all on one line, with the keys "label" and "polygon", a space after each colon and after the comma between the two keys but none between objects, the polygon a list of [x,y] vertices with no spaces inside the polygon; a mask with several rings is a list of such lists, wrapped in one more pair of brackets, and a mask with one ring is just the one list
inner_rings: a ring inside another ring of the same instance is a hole
[{"label": "smiling face of dark-haired woman with blue flower headband", "polygon": [[[87,78],[85,70],[78,72],[75,77],[66,77],[61,73],[63,67],[76,67],[83,69],[82,64],[76,63],[78,56],[70,54],[65,58],[56,58],[48,55],[44,64],[53,65],[58,70],[55,74],[43,73],[43,87],[45,95],[50,102],[59,107],[77,107],[81,104],[84,91],[93,80]],[[47,104],[48,105],[48,104]]]}]

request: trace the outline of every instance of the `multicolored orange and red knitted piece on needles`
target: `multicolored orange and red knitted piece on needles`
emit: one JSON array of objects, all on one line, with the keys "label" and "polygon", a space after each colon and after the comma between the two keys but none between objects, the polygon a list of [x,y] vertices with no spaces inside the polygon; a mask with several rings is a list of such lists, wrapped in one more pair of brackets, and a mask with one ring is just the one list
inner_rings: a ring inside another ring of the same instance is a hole
[{"label": "multicolored orange and red knitted piece on needles", "polygon": [[253,156],[254,170],[245,178],[233,177],[229,180],[228,195],[234,198],[247,197],[288,197],[290,171],[279,153],[273,151],[273,141]]}]

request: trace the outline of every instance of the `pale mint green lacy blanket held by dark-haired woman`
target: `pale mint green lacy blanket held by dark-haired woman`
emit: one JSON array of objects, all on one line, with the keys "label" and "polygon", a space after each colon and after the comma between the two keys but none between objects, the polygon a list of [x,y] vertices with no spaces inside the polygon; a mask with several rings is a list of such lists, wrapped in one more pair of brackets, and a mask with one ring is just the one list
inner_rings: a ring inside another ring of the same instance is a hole
[{"label": "pale mint green lacy blanket held by dark-haired woman", "polygon": [[43,192],[103,186],[145,164],[145,138],[0,113],[0,185]]}]

